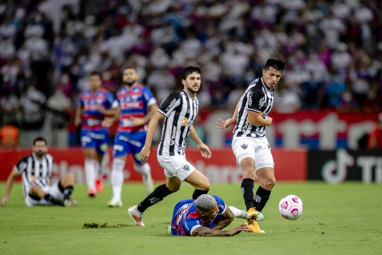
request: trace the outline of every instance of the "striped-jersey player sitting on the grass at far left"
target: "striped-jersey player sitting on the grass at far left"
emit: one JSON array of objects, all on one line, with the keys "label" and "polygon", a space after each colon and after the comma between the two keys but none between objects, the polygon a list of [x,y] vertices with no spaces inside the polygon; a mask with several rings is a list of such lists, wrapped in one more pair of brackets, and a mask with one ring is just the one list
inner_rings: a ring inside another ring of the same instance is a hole
[{"label": "striped-jersey player sitting on the grass at far left", "polygon": [[60,182],[50,185],[53,157],[47,154],[48,147],[45,139],[42,137],[36,138],[33,141],[32,150],[33,153],[22,158],[9,174],[2,206],[7,205],[9,193],[16,177],[19,175],[21,175],[26,206],[75,206],[77,202],[70,199],[73,191],[74,175],[67,173]]}]

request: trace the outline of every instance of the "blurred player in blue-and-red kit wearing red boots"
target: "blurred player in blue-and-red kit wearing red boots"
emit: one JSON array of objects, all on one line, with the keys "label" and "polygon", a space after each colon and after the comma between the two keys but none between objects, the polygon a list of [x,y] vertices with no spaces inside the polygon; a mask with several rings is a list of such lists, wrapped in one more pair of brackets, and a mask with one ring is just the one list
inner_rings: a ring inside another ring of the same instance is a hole
[{"label": "blurred player in blue-and-red kit wearing red boots", "polygon": [[95,197],[103,189],[100,178],[103,155],[108,147],[108,130],[101,125],[105,115],[114,114],[111,109],[114,96],[102,88],[102,77],[98,71],[90,73],[90,90],[78,96],[78,108],[74,125],[81,126],[81,146],[85,154],[85,176],[88,184],[88,195]]}]

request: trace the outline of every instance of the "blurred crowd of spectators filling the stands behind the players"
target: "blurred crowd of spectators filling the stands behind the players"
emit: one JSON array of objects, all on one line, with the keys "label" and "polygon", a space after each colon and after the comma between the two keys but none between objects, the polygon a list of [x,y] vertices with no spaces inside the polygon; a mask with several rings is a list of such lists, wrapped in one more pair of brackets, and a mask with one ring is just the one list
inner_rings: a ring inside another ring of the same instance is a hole
[{"label": "blurred crowd of spectators filling the stands behind the players", "polygon": [[[382,110],[382,2],[377,0],[0,1],[1,125],[68,138],[77,95],[102,73],[116,92],[135,66],[159,103],[190,64],[201,110],[230,109],[269,57],[288,68],[274,111]],[[51,131],[54,132],[51,132]],[[74,132],[75,133],[75,132]]]}]

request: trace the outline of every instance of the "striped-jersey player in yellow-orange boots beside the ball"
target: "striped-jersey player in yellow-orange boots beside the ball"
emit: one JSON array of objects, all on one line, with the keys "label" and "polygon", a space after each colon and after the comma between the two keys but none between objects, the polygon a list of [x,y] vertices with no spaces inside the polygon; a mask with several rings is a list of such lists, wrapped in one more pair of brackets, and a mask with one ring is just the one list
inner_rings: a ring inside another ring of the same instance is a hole
[{"label": "striped-jersey player in yellow-orange boots beside the ball", "polygon": [[[254,219],[257,221],[263,219],[260,212],[276,184],[275,164],[265,137],[265,126],[272,124],[272,118],[268,113],[274,100],[274,87],[280,81],[285,67],[285,63],[279,58],[268,59],[262,77],[254,80],[245,90],[232,118],[219,119],[217,122],[218,128],[225,129],[236,121],[232,149],[236,162],[243,171],[241,192],[247,207],[248,223],[250,226],[254,225],[257,232],[260,228]],[[260,182],[256,194],[254,194],[255,173]]]}]

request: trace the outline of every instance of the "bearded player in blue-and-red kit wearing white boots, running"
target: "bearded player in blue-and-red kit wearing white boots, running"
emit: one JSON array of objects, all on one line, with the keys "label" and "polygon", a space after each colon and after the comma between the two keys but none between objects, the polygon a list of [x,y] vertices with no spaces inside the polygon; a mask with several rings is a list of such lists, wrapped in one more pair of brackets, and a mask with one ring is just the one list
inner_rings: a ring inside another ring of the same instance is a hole
[{"label": "bearded player in blue-and-red kit wearing white boots, running", "polygon": [[146,123],[151,119],[158,105],[151,91],[138,83],[139,75],[134,67],[127,66],[123,69],[123,87],[117,91],[118,107],[113,118],[106,118],[104,126],[110,126],[119,119],[118,131],[113,147],[113,167],[111,183],[113,186],[113,197],[108,202],[109,207],[122,207],[123,169],[129,154],[133,156],[134,170],[142,174],[143,183],[147,193],[151,193],[153,181],[151,168],[146,162],[139,160],[147,134]]}]

